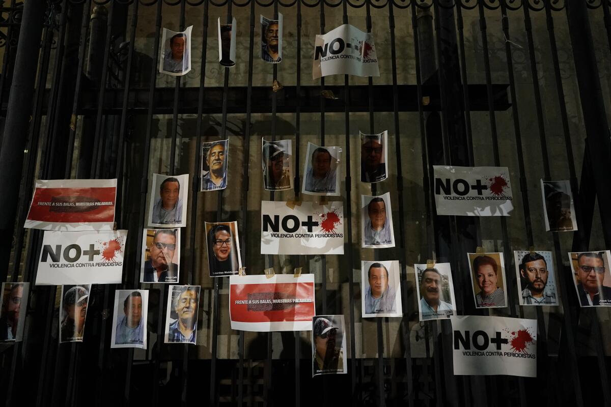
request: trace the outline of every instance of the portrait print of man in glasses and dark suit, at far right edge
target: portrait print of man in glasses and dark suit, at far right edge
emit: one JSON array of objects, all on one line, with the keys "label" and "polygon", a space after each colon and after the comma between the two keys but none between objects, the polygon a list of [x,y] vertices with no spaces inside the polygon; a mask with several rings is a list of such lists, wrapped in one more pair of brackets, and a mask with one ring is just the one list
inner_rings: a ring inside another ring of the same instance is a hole
[{"label": "portrait print of man in glasses and dark suit, at far right edge", "polygon": [[611,251],[569,253],[575,289],[582,307],[611,305]]}]

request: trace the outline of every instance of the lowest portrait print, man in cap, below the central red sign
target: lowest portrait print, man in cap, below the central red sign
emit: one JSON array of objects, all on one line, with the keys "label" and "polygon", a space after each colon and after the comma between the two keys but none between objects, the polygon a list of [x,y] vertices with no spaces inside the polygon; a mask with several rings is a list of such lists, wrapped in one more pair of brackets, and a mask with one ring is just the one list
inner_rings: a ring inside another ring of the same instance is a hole
[{"label": "lowest portrait print, man in cap, below the central red sign", "polygon": [[343,350],[335,347],[337,326],[324,317],[314,322],[314,374],[343,373]]}]

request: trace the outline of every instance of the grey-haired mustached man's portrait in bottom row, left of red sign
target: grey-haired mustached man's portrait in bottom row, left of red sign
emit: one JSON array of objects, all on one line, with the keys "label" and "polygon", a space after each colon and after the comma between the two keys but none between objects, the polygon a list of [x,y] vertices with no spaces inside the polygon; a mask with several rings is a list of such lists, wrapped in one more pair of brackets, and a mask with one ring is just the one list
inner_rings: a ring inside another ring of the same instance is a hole
[{"label": "grey-haired mustached man's portrait in bottom row, left of red sign", "polygon": [[197,307],[199,304],[199,287],[177,286],[180,295],[173,301],[174,312],[178,319],[170,323],[167,342],[186,342],[194,344],[197,331]]}]

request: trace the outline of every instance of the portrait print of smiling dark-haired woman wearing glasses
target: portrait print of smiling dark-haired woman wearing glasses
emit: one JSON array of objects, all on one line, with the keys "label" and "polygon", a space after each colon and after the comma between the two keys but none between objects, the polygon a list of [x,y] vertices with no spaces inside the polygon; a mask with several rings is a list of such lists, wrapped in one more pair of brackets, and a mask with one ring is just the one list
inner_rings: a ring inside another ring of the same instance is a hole
[{"label": "portrait print of smiling dark-haired woman wearing glasses", "polygon": [[236,275],[242,267],[238,222],[206,222],[208,267],[211,277]]}]

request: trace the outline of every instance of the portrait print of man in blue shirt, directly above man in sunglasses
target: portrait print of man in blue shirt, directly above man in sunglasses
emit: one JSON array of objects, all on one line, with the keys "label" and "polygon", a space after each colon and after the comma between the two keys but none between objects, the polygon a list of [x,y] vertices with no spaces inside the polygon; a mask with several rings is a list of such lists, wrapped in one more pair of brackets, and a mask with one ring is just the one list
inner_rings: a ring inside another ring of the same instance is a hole
[{"label": "portrait print of man in blue shirt, directly above man in sunglasses", "polygon": [[148,226],[180,228],[186,225],[189,175],[153,174],[148,191]]}]

